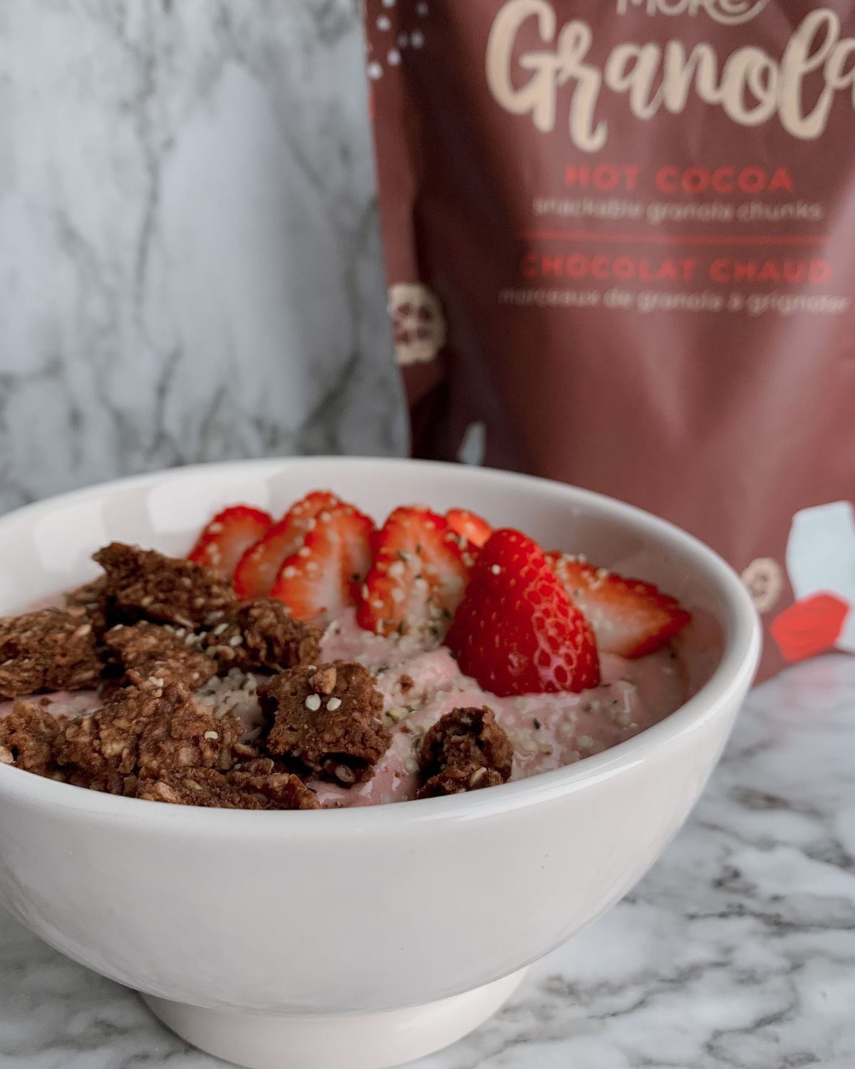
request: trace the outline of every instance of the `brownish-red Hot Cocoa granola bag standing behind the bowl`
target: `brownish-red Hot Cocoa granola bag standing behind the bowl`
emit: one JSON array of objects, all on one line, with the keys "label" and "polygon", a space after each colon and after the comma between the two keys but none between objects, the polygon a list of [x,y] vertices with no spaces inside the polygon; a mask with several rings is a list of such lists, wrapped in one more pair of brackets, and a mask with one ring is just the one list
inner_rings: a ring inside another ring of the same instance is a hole
[{"label": "brownish-red Hot Cocoa granola bag standing behind the bowl", "polygon": [[855,652],[855,7],[368,0],[418,455],[652,510]]}]

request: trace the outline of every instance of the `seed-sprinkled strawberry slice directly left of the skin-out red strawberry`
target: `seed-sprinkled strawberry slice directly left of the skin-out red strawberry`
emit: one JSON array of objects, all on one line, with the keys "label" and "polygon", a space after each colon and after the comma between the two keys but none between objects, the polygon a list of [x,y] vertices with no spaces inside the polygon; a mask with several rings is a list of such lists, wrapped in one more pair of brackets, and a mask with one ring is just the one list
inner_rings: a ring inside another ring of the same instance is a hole
[{"label": "seed-sprinkled strawberry slice directly left of the skin-out red strawberry", "polygon": [[377,635],[422,628],[440,635],[469,574],[460,536],[435,512],[401,508],[377,532],[373,549],[356,610],[359,626]]}]

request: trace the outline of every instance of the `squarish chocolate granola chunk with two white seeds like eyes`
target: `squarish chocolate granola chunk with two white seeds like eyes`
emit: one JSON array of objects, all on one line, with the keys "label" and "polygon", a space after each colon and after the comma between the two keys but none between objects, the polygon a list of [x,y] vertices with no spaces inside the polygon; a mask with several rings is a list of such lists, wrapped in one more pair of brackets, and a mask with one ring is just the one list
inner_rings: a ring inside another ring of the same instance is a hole
[{"label": "squarish chocolate granola chunk with two white seeds like eyes", "polygon": [[340,785],[368,779],[389,747],[383,697],[360,664],[290,668],[260,687],[259,697],[274,717],[267,749]]}]

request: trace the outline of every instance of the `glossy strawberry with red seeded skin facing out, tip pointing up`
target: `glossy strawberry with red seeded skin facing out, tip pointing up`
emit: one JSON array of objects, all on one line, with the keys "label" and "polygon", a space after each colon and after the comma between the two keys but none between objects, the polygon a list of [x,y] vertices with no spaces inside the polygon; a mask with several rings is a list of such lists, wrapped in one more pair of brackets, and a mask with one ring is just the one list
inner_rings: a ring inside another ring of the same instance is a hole
[{"label": "glossy strawberry with red seeded skin facing out, tip pointing up", "polygon": [[479,553],[446,646],[467,676],[501,697],[600,684],[588,621],[519,531],[495,531]]}]

